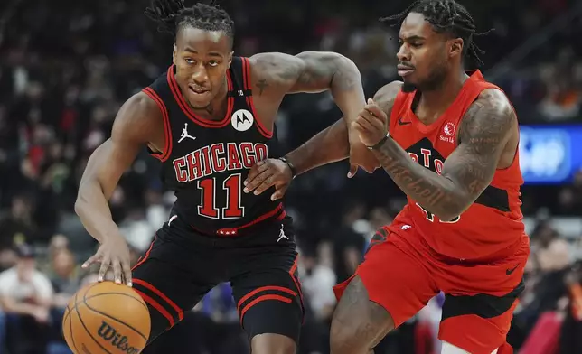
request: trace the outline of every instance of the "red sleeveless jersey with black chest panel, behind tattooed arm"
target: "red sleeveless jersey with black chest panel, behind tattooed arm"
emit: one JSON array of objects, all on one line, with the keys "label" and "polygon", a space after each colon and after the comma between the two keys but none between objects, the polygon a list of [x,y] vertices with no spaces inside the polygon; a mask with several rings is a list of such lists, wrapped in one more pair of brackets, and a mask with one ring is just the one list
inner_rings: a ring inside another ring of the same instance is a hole
[{"label": "red sleeveless jersey with black chest panel, behind tattooed arm", "polygon": [[[477,70],[465,81],[453,104],[428,126],[412,111],[415,93],[400,91],[390,116],[390,136],[412,160],[440,174],[446,158],[458,144],[458,129],[465,112],[483,89],[499,88],[486,82]],[[521,184],[519,153],[516,152],[511,166],[497,170],[491,184],[459,217],[442,221],[408,197],[408,204],[391,228],[405,237],[406,229],[415,228],[436,253],[456,259],[507,253],[518,247],[525,237],[521,221]]]}]

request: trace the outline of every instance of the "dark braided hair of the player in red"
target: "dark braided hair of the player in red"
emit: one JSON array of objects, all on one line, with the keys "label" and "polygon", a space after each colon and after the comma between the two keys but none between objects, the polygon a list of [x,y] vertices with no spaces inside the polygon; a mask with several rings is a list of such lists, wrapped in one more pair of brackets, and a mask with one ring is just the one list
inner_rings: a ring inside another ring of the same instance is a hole
[{"label": "dark braided hair of the player in red", "polygon": [[380,18],[380,22],[401,24],[409,13],[424,15],[426,21],[433,25],[437,33],[451,33],[463,39],[465,43],[463,47],[464,57],[467,55],[474,60],[477,66],[483,65],[479,54],[483,54],[484,51],[473,42],[473,37],[490,33],[493,30],[477,33],[473,17],[465,9],[465,6],[456,3],[455,0],[417,0],[400,14]]}]

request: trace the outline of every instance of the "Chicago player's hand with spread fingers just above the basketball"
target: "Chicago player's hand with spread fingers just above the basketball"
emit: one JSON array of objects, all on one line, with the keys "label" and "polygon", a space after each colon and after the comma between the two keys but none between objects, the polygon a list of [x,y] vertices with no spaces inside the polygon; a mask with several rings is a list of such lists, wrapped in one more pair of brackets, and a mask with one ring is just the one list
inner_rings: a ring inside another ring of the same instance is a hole
[{"label": "Chicago player's hand with spread fingers just above the basketball", "polygon": [[117,284],[131,286],[129,258],[129,248],[127,247],[126,240],[121,235],[110,236],[99,246],[97,253],[91,256],[82,267],[87,268],[94,263],[101,263],[98,275],[99,282],[105,279],[105,275],[109,267],[111,267],[113,268],[113,276]]}]

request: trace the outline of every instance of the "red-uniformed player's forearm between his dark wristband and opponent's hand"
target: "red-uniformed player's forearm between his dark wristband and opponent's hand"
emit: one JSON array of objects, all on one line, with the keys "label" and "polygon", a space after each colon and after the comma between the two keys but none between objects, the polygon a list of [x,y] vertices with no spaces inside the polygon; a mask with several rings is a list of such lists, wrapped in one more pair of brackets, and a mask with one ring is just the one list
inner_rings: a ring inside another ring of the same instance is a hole
[{"label": "red-uniformed player's forearm between his dark wristband and opponent's hand", "polygon": [[348,128],[345,121],[338,120],[333,126],[328,126],[305,144],[286,154],[286,158],[295,165],[297,174],[300,174],[346,159],[349,154]]}]

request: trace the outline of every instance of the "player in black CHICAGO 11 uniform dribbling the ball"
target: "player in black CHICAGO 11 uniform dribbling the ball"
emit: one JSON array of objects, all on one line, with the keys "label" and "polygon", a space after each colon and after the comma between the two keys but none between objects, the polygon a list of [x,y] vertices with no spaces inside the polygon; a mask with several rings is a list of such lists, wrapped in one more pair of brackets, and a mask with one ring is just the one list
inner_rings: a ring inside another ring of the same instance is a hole
[{"label": "player in black CHICAGO 11 uniform dribbling the ball", "polygon": [[[89,158],[75,210],[100,247],[83,266],[100,262],[101,280],[112,267],[117,283],[142,295],[148,343],[230,281],[253,354],[295,353],[303,303],[293,230],[279,201],[245,193],[243,182],[253,164],[281,156],[274,120],[286,94],[330,89],[350,122],[365,104],[360,73],[332,52],[233,57],[233,23],[218,6],[155,0],[146,14],[175,35],[173,65],[127,100],[111,137]],[[373,171],[376,160],[345,122],[334,132],[352,165]],[[108,200],[144,146],[163,163],[177,200],[130,270]]]}]

